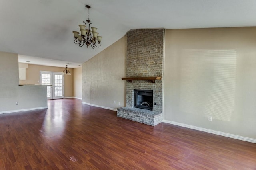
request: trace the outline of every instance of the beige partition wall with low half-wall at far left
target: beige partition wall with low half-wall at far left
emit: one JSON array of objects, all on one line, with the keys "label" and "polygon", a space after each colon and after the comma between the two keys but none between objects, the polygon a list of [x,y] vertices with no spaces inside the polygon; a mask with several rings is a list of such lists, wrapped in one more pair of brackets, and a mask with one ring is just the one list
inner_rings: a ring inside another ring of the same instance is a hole
[{"label": "beige partition wall with low half-wall at far left", "polygon": [[46,86],[19,86],[18,54],[0,52],[0,70],[0,113],[47,107]]}]

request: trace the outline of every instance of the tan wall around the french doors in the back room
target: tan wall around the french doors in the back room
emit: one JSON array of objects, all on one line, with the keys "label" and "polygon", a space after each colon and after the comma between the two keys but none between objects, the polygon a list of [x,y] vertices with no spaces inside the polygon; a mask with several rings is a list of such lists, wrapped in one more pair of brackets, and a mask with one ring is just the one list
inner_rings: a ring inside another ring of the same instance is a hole
[{"label": "tan wall around the french doors in the back room", "polygon": [[[64,98],[73,97],[73,68],[68,68],[71,75],[64,76]],[[64,67],[52,67],[28,64],[26,69],[26,80],[20,80],[20,84],[39,84],[40,71],[62,72]]]}]

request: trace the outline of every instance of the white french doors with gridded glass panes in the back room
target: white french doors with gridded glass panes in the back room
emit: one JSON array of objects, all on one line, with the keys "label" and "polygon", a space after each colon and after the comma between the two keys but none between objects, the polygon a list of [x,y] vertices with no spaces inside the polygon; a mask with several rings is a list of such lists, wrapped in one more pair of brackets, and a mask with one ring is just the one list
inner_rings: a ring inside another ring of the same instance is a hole
[{"label": "white french doors with gridded glass panes in the back room", "polygon": [[[40,71],[40,84],[47,86],[47,99],[62,99],[64,94],[64,76],[61,72]],[[52,85],[52,86],[50,86]]]}]

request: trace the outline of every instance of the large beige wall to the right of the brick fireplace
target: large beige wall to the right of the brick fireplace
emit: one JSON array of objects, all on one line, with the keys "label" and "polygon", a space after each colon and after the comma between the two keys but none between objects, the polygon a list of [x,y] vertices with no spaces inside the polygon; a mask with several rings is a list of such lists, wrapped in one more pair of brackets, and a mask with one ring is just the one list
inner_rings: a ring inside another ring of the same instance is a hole
[{"label": "large beige wall to the right of the brick fireplace", "polygon": [[256,27],[166,30],[164,120],[256,139],[255,47]]}]

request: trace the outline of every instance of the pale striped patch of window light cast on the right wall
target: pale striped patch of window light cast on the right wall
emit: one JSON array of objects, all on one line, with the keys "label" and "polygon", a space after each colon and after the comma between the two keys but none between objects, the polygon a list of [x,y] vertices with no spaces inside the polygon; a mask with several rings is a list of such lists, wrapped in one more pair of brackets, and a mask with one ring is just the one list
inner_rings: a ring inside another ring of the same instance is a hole
[{"label": "pale striped patch of window light cast on the right wall", "polygon": [[181,56],[180,110],[230,121],[236,88],[236,50],[185,49]]}]

